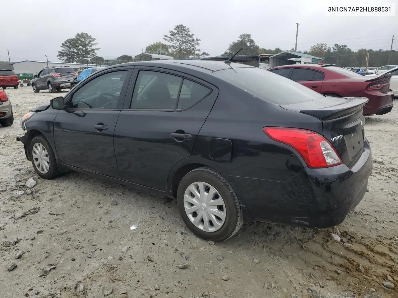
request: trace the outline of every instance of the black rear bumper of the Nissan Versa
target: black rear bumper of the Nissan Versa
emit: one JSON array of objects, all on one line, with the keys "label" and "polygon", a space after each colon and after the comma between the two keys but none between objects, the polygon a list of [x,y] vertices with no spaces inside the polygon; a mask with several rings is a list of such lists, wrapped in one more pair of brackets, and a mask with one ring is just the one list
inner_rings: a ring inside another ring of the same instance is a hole
[{"label": "black rear bumper of the Nissan Versa", "polygon": [[352,168],[305,168],[286,182],[225,176],[255,221],[326,228],[342,223],[365,195],[372,153],[364,151]]}]

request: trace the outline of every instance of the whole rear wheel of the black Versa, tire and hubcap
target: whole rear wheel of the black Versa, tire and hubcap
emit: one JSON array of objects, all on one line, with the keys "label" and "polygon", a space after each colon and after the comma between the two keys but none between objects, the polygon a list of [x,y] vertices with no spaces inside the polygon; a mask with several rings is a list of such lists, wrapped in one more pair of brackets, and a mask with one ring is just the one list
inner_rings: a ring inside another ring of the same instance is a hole
[{"label": "whole rear wheel of the black Versa, tire and hubcap", "polygon": [[177,203],[187,227],[205,240],[226,240],[242,227],[238,196],[229,182],[210,168],[197,168],[182,178]]}]

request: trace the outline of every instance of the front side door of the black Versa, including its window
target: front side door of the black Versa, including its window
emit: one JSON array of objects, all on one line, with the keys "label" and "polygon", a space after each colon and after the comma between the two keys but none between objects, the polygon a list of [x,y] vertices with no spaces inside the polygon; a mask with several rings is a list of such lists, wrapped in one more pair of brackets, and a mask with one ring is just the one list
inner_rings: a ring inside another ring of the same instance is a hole
[{"label": "front side door of the black Versa, including its window", "polygon": [[[132,70],[131,70],[132,72]],[[127,68],[91,78],[66,98],[54,122],[54,141],[62,163],[119,178],[113,132],[123,107]]]}]

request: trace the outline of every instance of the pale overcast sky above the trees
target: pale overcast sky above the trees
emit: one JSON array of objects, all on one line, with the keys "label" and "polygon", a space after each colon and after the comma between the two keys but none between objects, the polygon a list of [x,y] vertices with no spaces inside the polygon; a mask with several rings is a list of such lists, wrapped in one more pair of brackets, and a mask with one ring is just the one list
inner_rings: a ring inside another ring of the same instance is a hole
[{"label": "pale overcast sky above the trees", "polygon": [[[6,1],[6,0],[1,0]],[[329,1],[328,1],[329,2]],[[361,6],[380,0],[361,1]],[[396,3],[398,0],[382,2]],[[326,16],[326,4],[318,0],[18,0],[6,1],[1,14],[0,60],[59,61],[60,44],[76,33],[97,39],[98,55],[136,55],[148,44],[162,41],[175,25],[183,24],[201,39],[200,49],[221,54],[242,33],[250,33],[257,45],[298,50],[316,43],[345,44],[353,50],[398,49],[398,14],[384,17]],[[330,1],[336,6],[336,1]],[[345,6],[358,1],[345,0]],[[62,8],[61,8],[62,7]]]}]

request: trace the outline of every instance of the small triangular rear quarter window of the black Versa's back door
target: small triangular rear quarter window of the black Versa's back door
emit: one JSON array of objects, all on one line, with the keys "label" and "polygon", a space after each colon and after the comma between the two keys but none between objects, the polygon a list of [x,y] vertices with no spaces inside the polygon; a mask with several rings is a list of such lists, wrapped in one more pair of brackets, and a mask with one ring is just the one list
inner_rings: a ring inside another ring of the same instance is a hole
[{"label": "small triangular rear quarter window of the black Versa's back door", "polygon": [[201,84],[184,79],[178,98],[177,108],[179,110],[185,110],[193,106],[194,104],[205,98],[210,93],[210,91],[211,90],[209,88]]}]

